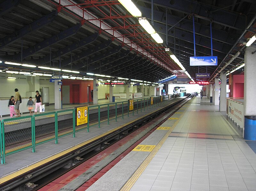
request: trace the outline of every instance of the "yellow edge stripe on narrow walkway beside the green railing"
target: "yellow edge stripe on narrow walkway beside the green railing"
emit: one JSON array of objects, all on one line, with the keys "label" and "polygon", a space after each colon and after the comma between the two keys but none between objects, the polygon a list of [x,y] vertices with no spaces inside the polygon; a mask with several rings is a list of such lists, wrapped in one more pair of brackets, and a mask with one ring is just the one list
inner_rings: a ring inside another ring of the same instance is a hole
[{"label": "yellow edge stripe on narrow walkway beside the green railing", "polygon": [[[170,104],[173,104],[173,103],[170,103]],[[170,105],[170,104],[169,104],[169,105]],[[56,158],[59,158],[59,157],[65,155],[65,154],[69,153],[69,152],[72,152],[72,151],[74,151],[74,150],[76,150],[76,149],[79,149],[79,148],[83,147],[84,145],[86,145],[86,144],[88,144],[88,143],[91,143],[91,142],[93,142],[93,141],[95,141],[95,140],[97,140],[97,139],[99,139],[99,138],[101,138],[101,137],[104,137],[104,136],[108,135],[109,133],[112,133],[112,132],[114,132],[114,131],[116,131],[116,130],[118,130],[118,129],[122,129],[124,126],[129,125],[129,124],[131,124],[131,123],[133,123],[133,122],[135,122],[135,121],[138,121],[139,119],[141,119],[141,118],[143,118],[143,117],[145,117],[145,116],[147,116],[147,115],[153,114],[153,113],[155,113],[156,111],[159,111],[159,110],[161,110],[161,109],[162,109],[162,108],[159,108],[159,109],[157,109],[157,110],[155,110],[155,111],[152,111],[152,112],[150,112],[150,113],[148,113],[148,114],[146,114],[146,115],[143,115],[143,116],[141,116],[141,117],[138,117],[138,118],[136,118],[136,119],[134,119],[134,120],[132,120],[132,121],[129,121],[129,122],[123,124],[123,125],[120,125],[120,126],[114,128],[114,129],[111,129],[111,130],[109,130],[109,131],[106,131],[105,133],[102,133],[102,134],[100,134],[100,135],[98,135],[98,136],[95,136],[95,137],[93,137],[93,138],[91,138],[91,139],[89,139],[89,140],[87,140],[87,141],[85,141],[85,142],[83,142],[83,143],[77,144],[77,145],[75,145],[74,147],[71,147],[71,148],[69,148],[69,149],[67,149],[67,150],[65,150],[65,151],[61,151],[60,153],[57,153],[57,154],[55,154],[55,155],[53,155],[53,156],[51,156],[51,157],[49,157],[49,158],[46,158],[46,159],[44,159],[44,160],[41,160],[41,161],[39,161],[39,162],[37,162],[37,163],[35,163],[35,164],[33,164],[33,165],[30,165],[30,166],[28,166],[28,167],[26,167],[26,168],[23,168],[23,169],[21,169],[21,170],[19,170],[19,171],[16,171],[16,172],[12,173],[12,174],[9,174],[9,175],[7,175],[7,176],[5,176],[5,177],[3,177],[3,178],[0,178],[0,184],[4,183],[4,182],[6,182],[6,181],[12,180],[13,178],[15,178],[15,177],[17,177],[17,176],[20,176],[20,175],[22,175],[22,174],[24,174],[24,173],[27,173],[28,171],[31,171],[31,170],[33,170],[33,169],[35,169],[35,168],[37,168],[37,167],[39,167],[39,166],[41,166],[41,165],[44,165],[44,164],[46,164],[46,163],[48,163],[48,162],[50,162],[50,161],[52,161],[52,160],[54,160],[54,159],[56,159]]]}]

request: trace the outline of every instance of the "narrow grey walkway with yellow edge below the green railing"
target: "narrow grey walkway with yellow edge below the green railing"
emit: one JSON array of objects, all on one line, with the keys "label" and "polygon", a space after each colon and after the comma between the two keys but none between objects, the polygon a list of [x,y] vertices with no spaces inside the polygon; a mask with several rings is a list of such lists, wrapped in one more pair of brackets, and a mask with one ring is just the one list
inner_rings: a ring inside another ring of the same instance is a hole
[{"label": "narrow grey walkway with yellow edge below the green railing", "polygon": [[[100,128],[98,126],[90,127],[89,132],[87,130],[81,130],[73,137],[72,134],[62,136],[58,139],[58,144],[55,144],[55,140],[46,143],[36,145],[36,152],[31,152],[31,148],[19,151],[5,157],[6,163],[0,165],[0,184],[12,178],[18,177],[23,173],[27,173],[30,170],[36,169],[46,163],[49,163],[56,158],[64,156],[69,152],[82,148],[84,145],[91,143],[99,138],[104,138],[111,132],[115,132],[124,128],[127,125],[132,124],[134,121],[143,120],[145,116],[153,115],[155,112],[165,108],[168,105],[172,105],[175,102],[179,102],[185,99],[184,97],[178,97],[165,102],[154,102],[156,104],[144,105],[130,114],[124,113],[124,118],[117,116],[116,120],[109,120],[109,124],[105,120],[101,122]],[[159,99],[160,100],[160,99]],[[145,104],[145,103],[144,103]],[[141,104],[139,104],[141,105]],[[92,116],[92,114],[91,114]],[[98,119],[98,118],[97,118]],[[31,134],[31,132],[29,132]],[[20,143],[21,144],[21,143]]]}]

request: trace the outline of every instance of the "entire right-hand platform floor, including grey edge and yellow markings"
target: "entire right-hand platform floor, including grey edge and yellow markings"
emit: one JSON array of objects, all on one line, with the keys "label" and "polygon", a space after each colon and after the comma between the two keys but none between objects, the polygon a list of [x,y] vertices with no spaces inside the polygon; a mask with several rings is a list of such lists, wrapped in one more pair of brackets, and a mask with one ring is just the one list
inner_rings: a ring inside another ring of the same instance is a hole
[{"label": "entire right-hand platform floor, including grey edge and yellow markings", "polygon": [[256,190],[255,142],[218,107],[192,98],[86,191]]}]

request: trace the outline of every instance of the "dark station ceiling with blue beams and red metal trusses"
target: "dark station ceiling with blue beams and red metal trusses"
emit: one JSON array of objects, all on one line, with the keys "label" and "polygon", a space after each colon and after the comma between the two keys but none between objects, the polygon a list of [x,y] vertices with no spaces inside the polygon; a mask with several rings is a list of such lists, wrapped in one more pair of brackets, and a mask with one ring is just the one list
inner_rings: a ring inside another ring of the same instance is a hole
[{"label": "dark station ceiling with blue beams and red metal trusses", "polygon": [[[133,2],[151,21],[152,1]],[[157,44],[117,0],[0,0],[0,60],[150,82],[181,72],[164,48],[172,50],[194,79],[195,73],[210,73],[205,81],[244,62],[244,42],[255,34],[256,1],[153,2],[154,28],[163,44]],[[217,67],[189,66],[194,56],[193,15],[196,56],[211,55],[212,22]],[[224,69],[237,52],[240,55]]]}]

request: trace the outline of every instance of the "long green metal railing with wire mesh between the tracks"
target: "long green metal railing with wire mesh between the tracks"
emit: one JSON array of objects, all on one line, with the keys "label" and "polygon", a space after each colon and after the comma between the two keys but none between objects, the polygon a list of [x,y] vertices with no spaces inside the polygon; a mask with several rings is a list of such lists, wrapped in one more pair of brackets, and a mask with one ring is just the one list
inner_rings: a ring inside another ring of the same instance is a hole
[{"label": "long green metal railing with wire mesh between the tracks", "polygon": [[[36,145],[58,139],[62,136],[76,136],[76,132],[116,122],[118,119],[142,113],[163,104],[167,104],[179,95],[165,95],[151,98],[135,99],[133,110],[129,111],[129,101],[111,102],[108,104],[88,106],[88,122],[76,125],[76,108],[56,112],[36,114],[0,121],[0,158],[5,163],[5,156],[31,148],[36,151]],[[161,101],[162,100],[162,101]],[[84,107],[84,106],[80,106]]]}]

